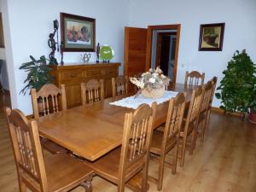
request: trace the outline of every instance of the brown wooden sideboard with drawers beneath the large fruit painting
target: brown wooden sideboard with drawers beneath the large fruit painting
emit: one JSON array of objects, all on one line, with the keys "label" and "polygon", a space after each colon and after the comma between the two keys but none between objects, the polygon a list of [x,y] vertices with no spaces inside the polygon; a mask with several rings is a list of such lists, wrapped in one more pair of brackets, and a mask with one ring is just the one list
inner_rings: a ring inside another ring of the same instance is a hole
[{"label": "brown wooden sideboard with drawers beneath the large fruit painting", "polygon": [[112,96],[111,79],[119,75],[120,63],[90,63],[66,66],[53,66],[50,72],[55,77],[55,84],[66,86],[67,108],[82,104],[81,83],[90,79],[104,79],[105,97]]}]

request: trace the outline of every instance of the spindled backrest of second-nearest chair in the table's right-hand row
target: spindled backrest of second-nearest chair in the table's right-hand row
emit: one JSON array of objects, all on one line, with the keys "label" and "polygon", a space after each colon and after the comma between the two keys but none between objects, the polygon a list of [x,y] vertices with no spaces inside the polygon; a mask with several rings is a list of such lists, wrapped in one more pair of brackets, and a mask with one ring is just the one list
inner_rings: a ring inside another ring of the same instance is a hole
[{"label": "spindled backrest of second-nearest chair in the table's right-hand row", "polygon": [[168,149],[172,144],[172,139],[179,137],[180,128],[183,123],[183,115],[187,101],[187,93],[179,93],[169,102],[169,108],[166,117],[166,126],[162,141],[162,150]]}]

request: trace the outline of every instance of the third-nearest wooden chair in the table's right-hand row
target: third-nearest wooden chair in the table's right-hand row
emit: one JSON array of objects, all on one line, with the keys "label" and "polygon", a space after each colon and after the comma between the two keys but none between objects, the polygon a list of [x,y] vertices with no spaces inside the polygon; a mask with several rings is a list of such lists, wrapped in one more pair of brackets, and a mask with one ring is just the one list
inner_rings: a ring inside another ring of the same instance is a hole
[{"label": "third-nearest wooden chair in the table's right-hand row", "polygon": [[202,86],[198,86],[192,91],[192,96],[189,104],[189,111],[186,119],[183,120],[183,125],[180,131],[181,141],[181,161],[180,166],[184,165],[185,149],[188,143],[188,137],[191,136],[189,143],[189,154],[193,154],[195,146],[195,131],[197,127],[197,119],[199,117],[200,106],[202,99]]}]

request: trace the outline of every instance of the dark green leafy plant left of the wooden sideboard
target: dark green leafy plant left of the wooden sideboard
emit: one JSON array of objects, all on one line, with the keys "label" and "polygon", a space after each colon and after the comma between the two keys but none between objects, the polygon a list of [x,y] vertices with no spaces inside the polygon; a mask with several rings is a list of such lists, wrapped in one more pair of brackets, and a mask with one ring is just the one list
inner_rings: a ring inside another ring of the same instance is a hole
[{"label": "dark green leafy plant left of the wooden sideboard", "polygon": [[30,55],[32,61],[21,64],[20,69],[24,69],[27,72],[27,77],[24,83],[26,86],[20,90],[20,93],[26,94],[27,90],[34,88],[40,90],[44,84],[49,84],[53,81],[53,77],[49,75],[51,68],[47,65],[47,59],[45,56],[40,56],[39,60],[36,60]]}]

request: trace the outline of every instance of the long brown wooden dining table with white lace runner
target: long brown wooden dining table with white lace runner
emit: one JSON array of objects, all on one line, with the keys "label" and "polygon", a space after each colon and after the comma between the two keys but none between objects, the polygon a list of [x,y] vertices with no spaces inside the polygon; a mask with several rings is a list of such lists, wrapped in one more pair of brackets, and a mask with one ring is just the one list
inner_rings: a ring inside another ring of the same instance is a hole
[{"label": "long brown wooden dining table with white lace runner", "polygon": [[[171,88],[177,92],[191,90],[183,84]],[[70,108],[38,119],[38,130],[42,137],[61,145],[80,157],[94,161],[121,145],[125,113],[134,111],[109,104],[116,101],[107,98],[86,106]],[[154,128],[166,122],[168,102],[157,106]]]}]

